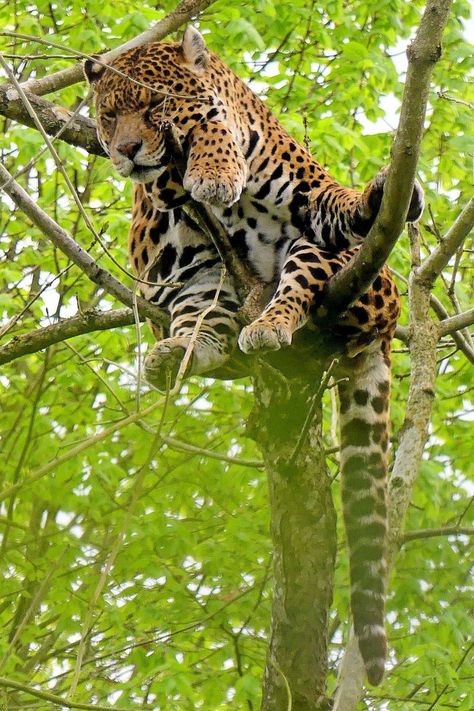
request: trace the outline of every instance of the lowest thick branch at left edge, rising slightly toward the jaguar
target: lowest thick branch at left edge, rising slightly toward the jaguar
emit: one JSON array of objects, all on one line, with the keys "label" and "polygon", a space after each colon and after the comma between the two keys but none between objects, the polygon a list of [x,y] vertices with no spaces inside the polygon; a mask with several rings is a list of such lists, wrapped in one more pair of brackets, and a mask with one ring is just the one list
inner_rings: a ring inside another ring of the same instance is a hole
[{"label": "lowest thick branch at left edge, rising slightly toward the jaguar", "polygon": [[37,328],[21,336],[14,336],[8,343],[0,347],[0,365],[9,363],[24,355],[37,353],[44,348],[52,346],[54,343],[60,343],[69,338],[81,336],[84,333],[130,326],[134,321],[135,318],[132,309],[85,311],[82,314],[64,319],[51,326]]}]

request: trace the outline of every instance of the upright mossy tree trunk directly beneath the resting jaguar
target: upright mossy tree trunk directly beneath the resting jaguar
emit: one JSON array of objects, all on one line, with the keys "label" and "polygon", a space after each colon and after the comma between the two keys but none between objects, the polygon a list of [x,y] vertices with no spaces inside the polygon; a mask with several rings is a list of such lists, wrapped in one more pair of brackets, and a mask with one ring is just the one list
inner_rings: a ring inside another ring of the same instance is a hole
[{"label": "upright mossy tree trunk directly beneath the resting jaguar", "polygon": [[[298,367],[285,371],[295,373]],[[254,374],[248,429],[266,464],[274,547],[271,640],[261,711],[327,708],[336,522],[321,440],[317,391],[322,374],[321,364],[287,380],[263,363]]]}]

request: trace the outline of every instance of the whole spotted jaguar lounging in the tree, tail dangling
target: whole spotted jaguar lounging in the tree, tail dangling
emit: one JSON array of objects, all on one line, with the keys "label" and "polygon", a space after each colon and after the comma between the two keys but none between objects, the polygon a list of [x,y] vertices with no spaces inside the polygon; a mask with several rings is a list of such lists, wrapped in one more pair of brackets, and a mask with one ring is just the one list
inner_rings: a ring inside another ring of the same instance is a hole
[{"label": "whole spotted jaguar lounging in the tree, tail dangling", "polygon": [[[170,314],[167,333],[155,327],[157,343],[145,361],[150,382],[165,387],[191,341],[188,375],[219,368],[237,343],[246,354],[259,353],[289,346],[304,326],[317,332],[325,287],[367,236],[386,170],[362,192],[340,185],[193,27],[181,42],[136,47],[110,65],[93,57],[85,74],[95,90],[99,140],[119,175],[134,182],[131,263],[144,296]],[[262,313],[244,328],[236,289],[222,279],[221,255],[188,214],[190,200],[213,212],[235,253],[271,288]],[[422,210],[415,182],[407,221]],[[337,323],[324,324],[345,334],[343,515],[354,629],[374,685],[383,678],[387,647],[390,344],[399,310],[384,267]]]}]

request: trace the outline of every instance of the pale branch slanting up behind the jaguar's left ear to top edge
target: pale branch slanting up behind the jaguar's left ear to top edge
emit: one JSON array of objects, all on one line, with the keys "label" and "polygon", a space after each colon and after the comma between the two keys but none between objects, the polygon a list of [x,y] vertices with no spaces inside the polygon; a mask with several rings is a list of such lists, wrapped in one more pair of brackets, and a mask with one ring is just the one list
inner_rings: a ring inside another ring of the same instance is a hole
[{"label": "pale branch slanting up behind the jaguar's left ear to top edge", "polygon": [[[189,22],[192,17],[195,17],[200,12],[203,12],[213,0],[182,0],[178,7],[169,13],[162,20],[157,22],[153,27],[142,32],[137,37],[125,42],[115,49],[106,52],[101,56],[101,61],[110,62],[122,52],[126,52],[134,47],[139,47],[148,42],[159,42],[170,32],[174,32],[185,22]],[[84,55],[86,56],[86,55]],[[71,84],[77,84],[84,81],[82,64],[77,64],[69,69],[63,69],[60,72],[55,72],[41,79],[29,79],[24,82],[23,88],[37,95],[49,94],[59,89],[64,89]]]}]

